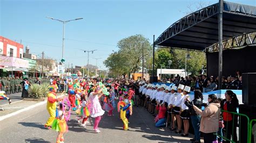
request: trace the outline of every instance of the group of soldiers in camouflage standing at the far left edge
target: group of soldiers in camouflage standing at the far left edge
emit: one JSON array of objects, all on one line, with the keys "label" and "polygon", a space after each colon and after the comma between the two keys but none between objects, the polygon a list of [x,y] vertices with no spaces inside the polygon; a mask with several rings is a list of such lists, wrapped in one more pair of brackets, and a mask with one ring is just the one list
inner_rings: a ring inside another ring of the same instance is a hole
[{"label": "group of soldiers in camouflage standing at the far left edge", "polygon": [[6,94],[22,92],[22,77],[0,77],[0,91]]}]

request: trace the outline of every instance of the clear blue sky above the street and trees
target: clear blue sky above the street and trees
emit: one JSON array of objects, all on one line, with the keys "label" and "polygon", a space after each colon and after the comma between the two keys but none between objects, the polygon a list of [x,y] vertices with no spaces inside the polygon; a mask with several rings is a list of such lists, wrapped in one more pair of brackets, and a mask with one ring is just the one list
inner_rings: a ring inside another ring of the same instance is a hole
[{"label": "clear blue sky above the street and trees", "polygon": [[[204,1],[0,1],[0,35],[28,45],[34,54],[45,55],[59,61],[62,57],[63,24],[56,19],[72,21],[65,27],[65,65],[87,64],[87,53],[79,49],[97,49],[90,54],[90,64],[103,66],[103,61],[117,51],[119,40],[134,34],[143,34],[153,42],[172,23],[195,10],[198,3],[204,5],[218,0]],[[228,2],[256,6],[256,0],[230,0]],[[191,6],[190,6],[191,5]],[[71,66],[70,66],[71,67]],[[105,68],[105,67],[102,67]]]}]

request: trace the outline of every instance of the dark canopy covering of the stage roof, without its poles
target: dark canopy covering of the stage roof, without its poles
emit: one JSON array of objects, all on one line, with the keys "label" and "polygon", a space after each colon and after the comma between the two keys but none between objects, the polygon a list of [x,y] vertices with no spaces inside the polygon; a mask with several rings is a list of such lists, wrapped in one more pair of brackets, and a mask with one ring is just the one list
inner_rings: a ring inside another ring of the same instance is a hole
[{"label": "dark canopy covering of the stage roof, without its poles", "polygon": [[[155,46],[204,51],[219,40],[219,3],[187,15],[165,30]],[[256,31],[256,6],[224,2],[223,40]]]}]

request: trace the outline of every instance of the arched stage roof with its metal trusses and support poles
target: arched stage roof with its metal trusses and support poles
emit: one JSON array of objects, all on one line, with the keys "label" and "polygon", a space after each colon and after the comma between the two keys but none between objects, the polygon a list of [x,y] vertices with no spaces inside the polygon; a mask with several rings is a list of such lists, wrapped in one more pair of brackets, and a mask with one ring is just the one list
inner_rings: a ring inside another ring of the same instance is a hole
[{"label": "arched stage roof with its metal trusses and support poles", "polygon": [[156,40],[153,37],[153,63],[155,47],[201,51],[206,55],[207,52],[219,51],[218,76],[221,77],[223,49],[254,45],[253,32],[256,32],[256,6],[219,0],[219,3],[179,19]]}]

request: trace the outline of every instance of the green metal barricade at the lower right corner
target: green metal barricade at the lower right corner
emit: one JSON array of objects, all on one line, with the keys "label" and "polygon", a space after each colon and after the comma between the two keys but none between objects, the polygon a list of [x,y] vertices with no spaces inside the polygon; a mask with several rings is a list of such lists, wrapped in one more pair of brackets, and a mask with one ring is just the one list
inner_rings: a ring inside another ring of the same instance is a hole
[{"label": "green metal barricade at the lower right corner", "polygon": [[[225,129],[225,135],[223,134],[223,135],[220,135],[220,134],[216,134],[219,138],[223,138],[224,140],[226,140],[226,141],[230,141],[230,142],[236,142],[236,141],[233,141],[233,135],[235,134],[236,135],[236,133],[234,133],[234,130],[233,130],[233,127],[234,127],[234,125],[235,126],[237,126],[237,124],[238,123],[235,123],[235,121],[237,121],[238,122],[238,120],[239,120],[239,133],[238,133],[238,140],[239,140],[239,142],[241,142],[241,137],[240,137],[240,135],[241,135],[241,119],[242,118],[245,118],[246,120],[247,120],[247,143],[250,143],[251,142],[251,140],[250,140],[250,119],[249,119],[249,117],[247,116],[247,115],[244,115],[244,114],[241,114],[241,113],[236,113],[236,112],[229,112],[229,111],[225,111],[225,110],[221,110],[221,112],[222,113],[224,113],[224,112],[227,112],[227,113],[231,113],[231,116],[232,116],[232,120],[231,121],[226,121],[225,123],[226,124],[224,124],[225,126],[224,126],[224,128],[223,129]],[[236,120],[236,118],[238,119],[238,120]],[[227,116],[227,120],[228,120],[228,116]],[[255,120],[256,121],[256,120]],[[228,125],[230,125],[230,124],[232,124],[232,128],[231,128],[231,130],[232,131],[230,131],[230,128],[228,128],[228,127],[230,127],[230,126],[228,126]],[[235,132],[237,131],[237,127],[235,127]],[[231,133],[231,136],[232,136],[232,140],[231,139],[228,139],[227,138],[227,133],[228,132],[232,132]],[[244,143],[244,142],[242,142],[242,143]]]}]

